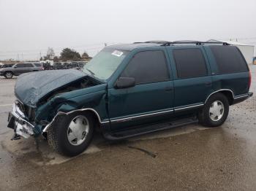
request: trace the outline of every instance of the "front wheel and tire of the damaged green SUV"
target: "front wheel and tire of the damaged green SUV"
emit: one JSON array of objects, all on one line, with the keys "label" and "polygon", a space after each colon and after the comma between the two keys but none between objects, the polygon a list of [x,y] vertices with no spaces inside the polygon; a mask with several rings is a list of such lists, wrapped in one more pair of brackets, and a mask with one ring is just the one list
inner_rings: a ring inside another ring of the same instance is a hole
[{"label": "front wheel and tire of the damaged green SUV", "polygon": [[[89,125],[86,130],[83,129],[85,124]],[[86,112],[75,112],[56,117],[56,121],[53,122],[53,125],[48,130],[48,144],[61,155],[69,157],[79,155],[89,147],[94,134],[94,126],[94,117]],[[81,133],[82,131],[83,133]],[[75,136],[78,138],[75,138]]]}]

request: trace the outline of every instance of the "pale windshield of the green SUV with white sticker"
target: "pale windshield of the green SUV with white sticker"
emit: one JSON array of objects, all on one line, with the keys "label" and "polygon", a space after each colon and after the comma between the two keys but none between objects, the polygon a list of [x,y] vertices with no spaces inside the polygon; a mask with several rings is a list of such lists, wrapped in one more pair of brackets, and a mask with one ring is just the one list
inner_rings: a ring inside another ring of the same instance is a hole
[{"label": "pale windshield of the green SUV with white sticker", "polygon": [[83,72],[99,79],[108,79],[124,60],[127,51],[105,48],[83,66]]}]

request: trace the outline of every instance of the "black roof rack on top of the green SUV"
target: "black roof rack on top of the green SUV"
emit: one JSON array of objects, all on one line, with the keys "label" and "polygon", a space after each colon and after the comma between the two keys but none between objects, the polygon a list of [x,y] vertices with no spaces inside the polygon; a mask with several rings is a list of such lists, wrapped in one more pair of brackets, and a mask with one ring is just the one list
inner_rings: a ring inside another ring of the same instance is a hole
[{"label": "black roof rack on top of the green SUV", "polygon": [[161,46],[170,46],[172,44],[195,44],[195,45],[202,45],[202,44],[222,44],[222,45],[230,45],[227,42],[201,42],[201,41],[191,41],[191,40],[185,40],[185,41],[147,41],[147,42],[135,42],[135,44],[138,43],[157,43],[161,44]]}]

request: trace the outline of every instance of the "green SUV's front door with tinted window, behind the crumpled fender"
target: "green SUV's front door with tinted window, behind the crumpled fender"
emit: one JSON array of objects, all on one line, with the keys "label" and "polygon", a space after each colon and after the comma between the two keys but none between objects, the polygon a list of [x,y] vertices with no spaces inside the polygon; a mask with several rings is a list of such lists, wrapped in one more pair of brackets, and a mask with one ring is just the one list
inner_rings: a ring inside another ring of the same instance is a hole
[{"label": "green SUV's front door with tinted window, behind the crumpled fender", "polygon": [[135,53],[120,77],[134,78],[135,86],[108,90],[112,130],[166,120],[173,114],[173,80],[165,50]]}]

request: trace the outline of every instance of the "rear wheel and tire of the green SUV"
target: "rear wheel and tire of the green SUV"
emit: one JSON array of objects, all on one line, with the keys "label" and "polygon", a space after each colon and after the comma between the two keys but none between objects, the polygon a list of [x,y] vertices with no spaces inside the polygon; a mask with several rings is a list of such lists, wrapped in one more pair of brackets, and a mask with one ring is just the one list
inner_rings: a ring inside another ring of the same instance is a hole
[{"label": "rear wheel and tire of the green SUV", "polygon": [[218,127],[227,119],[229,102],[222,93],[215,93],[208,98],[203,110],[198,114],[201,125],[206,127]]}]

